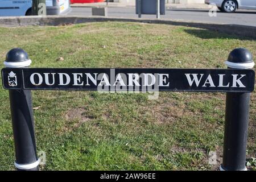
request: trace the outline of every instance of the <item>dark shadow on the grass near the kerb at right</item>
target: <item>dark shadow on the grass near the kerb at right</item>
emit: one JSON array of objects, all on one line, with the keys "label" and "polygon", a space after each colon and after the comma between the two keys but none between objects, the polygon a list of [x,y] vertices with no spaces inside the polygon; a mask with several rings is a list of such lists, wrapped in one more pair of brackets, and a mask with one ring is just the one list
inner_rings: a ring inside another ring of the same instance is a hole
[{"label": "dark shadow on the grass near the kerb at right", "polygon": [[239,39],[239,40],[255,40],[255,38],[249,36],[238,36],[232,34],[220,34],[218,31],[211,30],[191,30],[185,29],[184,32],[187,32],[190,35],[197,36],[201,39]]}]

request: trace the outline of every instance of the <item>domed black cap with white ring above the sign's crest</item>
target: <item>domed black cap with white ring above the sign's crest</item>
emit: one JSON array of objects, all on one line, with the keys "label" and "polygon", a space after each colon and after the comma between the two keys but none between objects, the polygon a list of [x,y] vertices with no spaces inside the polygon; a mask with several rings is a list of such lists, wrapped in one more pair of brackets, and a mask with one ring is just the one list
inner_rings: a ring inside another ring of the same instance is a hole
[{"label": "domed black cap with white ring above the sign's crest", "polygon": [[7,52],[3,64],[9,68],[28,67],[31,64],[31,60],[28,58],[26,51],[21,48],[13,48]]}]

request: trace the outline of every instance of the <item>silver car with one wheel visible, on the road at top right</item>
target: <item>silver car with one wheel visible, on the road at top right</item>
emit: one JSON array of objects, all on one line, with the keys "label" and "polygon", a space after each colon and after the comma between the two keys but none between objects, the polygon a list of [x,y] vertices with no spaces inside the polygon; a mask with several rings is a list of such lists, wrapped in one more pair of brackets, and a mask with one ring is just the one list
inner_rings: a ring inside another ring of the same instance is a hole
[{"label": "silver car with one wheel visible, on the road at top right", "polygon": [[233,13],[237,9],[256,10],[256,0],[205,0],[205,3],[215,4],[226,13]]}]

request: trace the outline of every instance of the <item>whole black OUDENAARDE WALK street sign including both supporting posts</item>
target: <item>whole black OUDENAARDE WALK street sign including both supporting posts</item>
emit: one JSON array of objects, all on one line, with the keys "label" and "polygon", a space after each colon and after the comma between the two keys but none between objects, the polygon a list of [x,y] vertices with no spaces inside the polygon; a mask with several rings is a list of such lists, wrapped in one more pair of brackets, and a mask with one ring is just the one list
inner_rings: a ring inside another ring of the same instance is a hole
[{"label": "whole black OUDENAARDE WALK street sign including both supporting posts", "polygon": [[250,92],[255,72],[251,53],[234,49],[228,69],[27,68],[23,49],[11,49],[2,69],[9,89],[16,152],[15,167],[37,170],[31,90],[226,92],[224,156],[221,170],[245,170]]}]

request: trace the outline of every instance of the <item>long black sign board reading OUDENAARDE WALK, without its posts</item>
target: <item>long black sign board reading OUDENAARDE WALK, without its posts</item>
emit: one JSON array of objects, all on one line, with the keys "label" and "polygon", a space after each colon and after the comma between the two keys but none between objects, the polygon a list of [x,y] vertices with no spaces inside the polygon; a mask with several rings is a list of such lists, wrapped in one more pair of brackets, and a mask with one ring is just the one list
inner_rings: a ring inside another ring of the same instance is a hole
[{"label": "long black sign board reading OUDENAARDE WALK, without its posts", "polygon": [[3,68],[5,89],[252,92],[252,69]]}]

